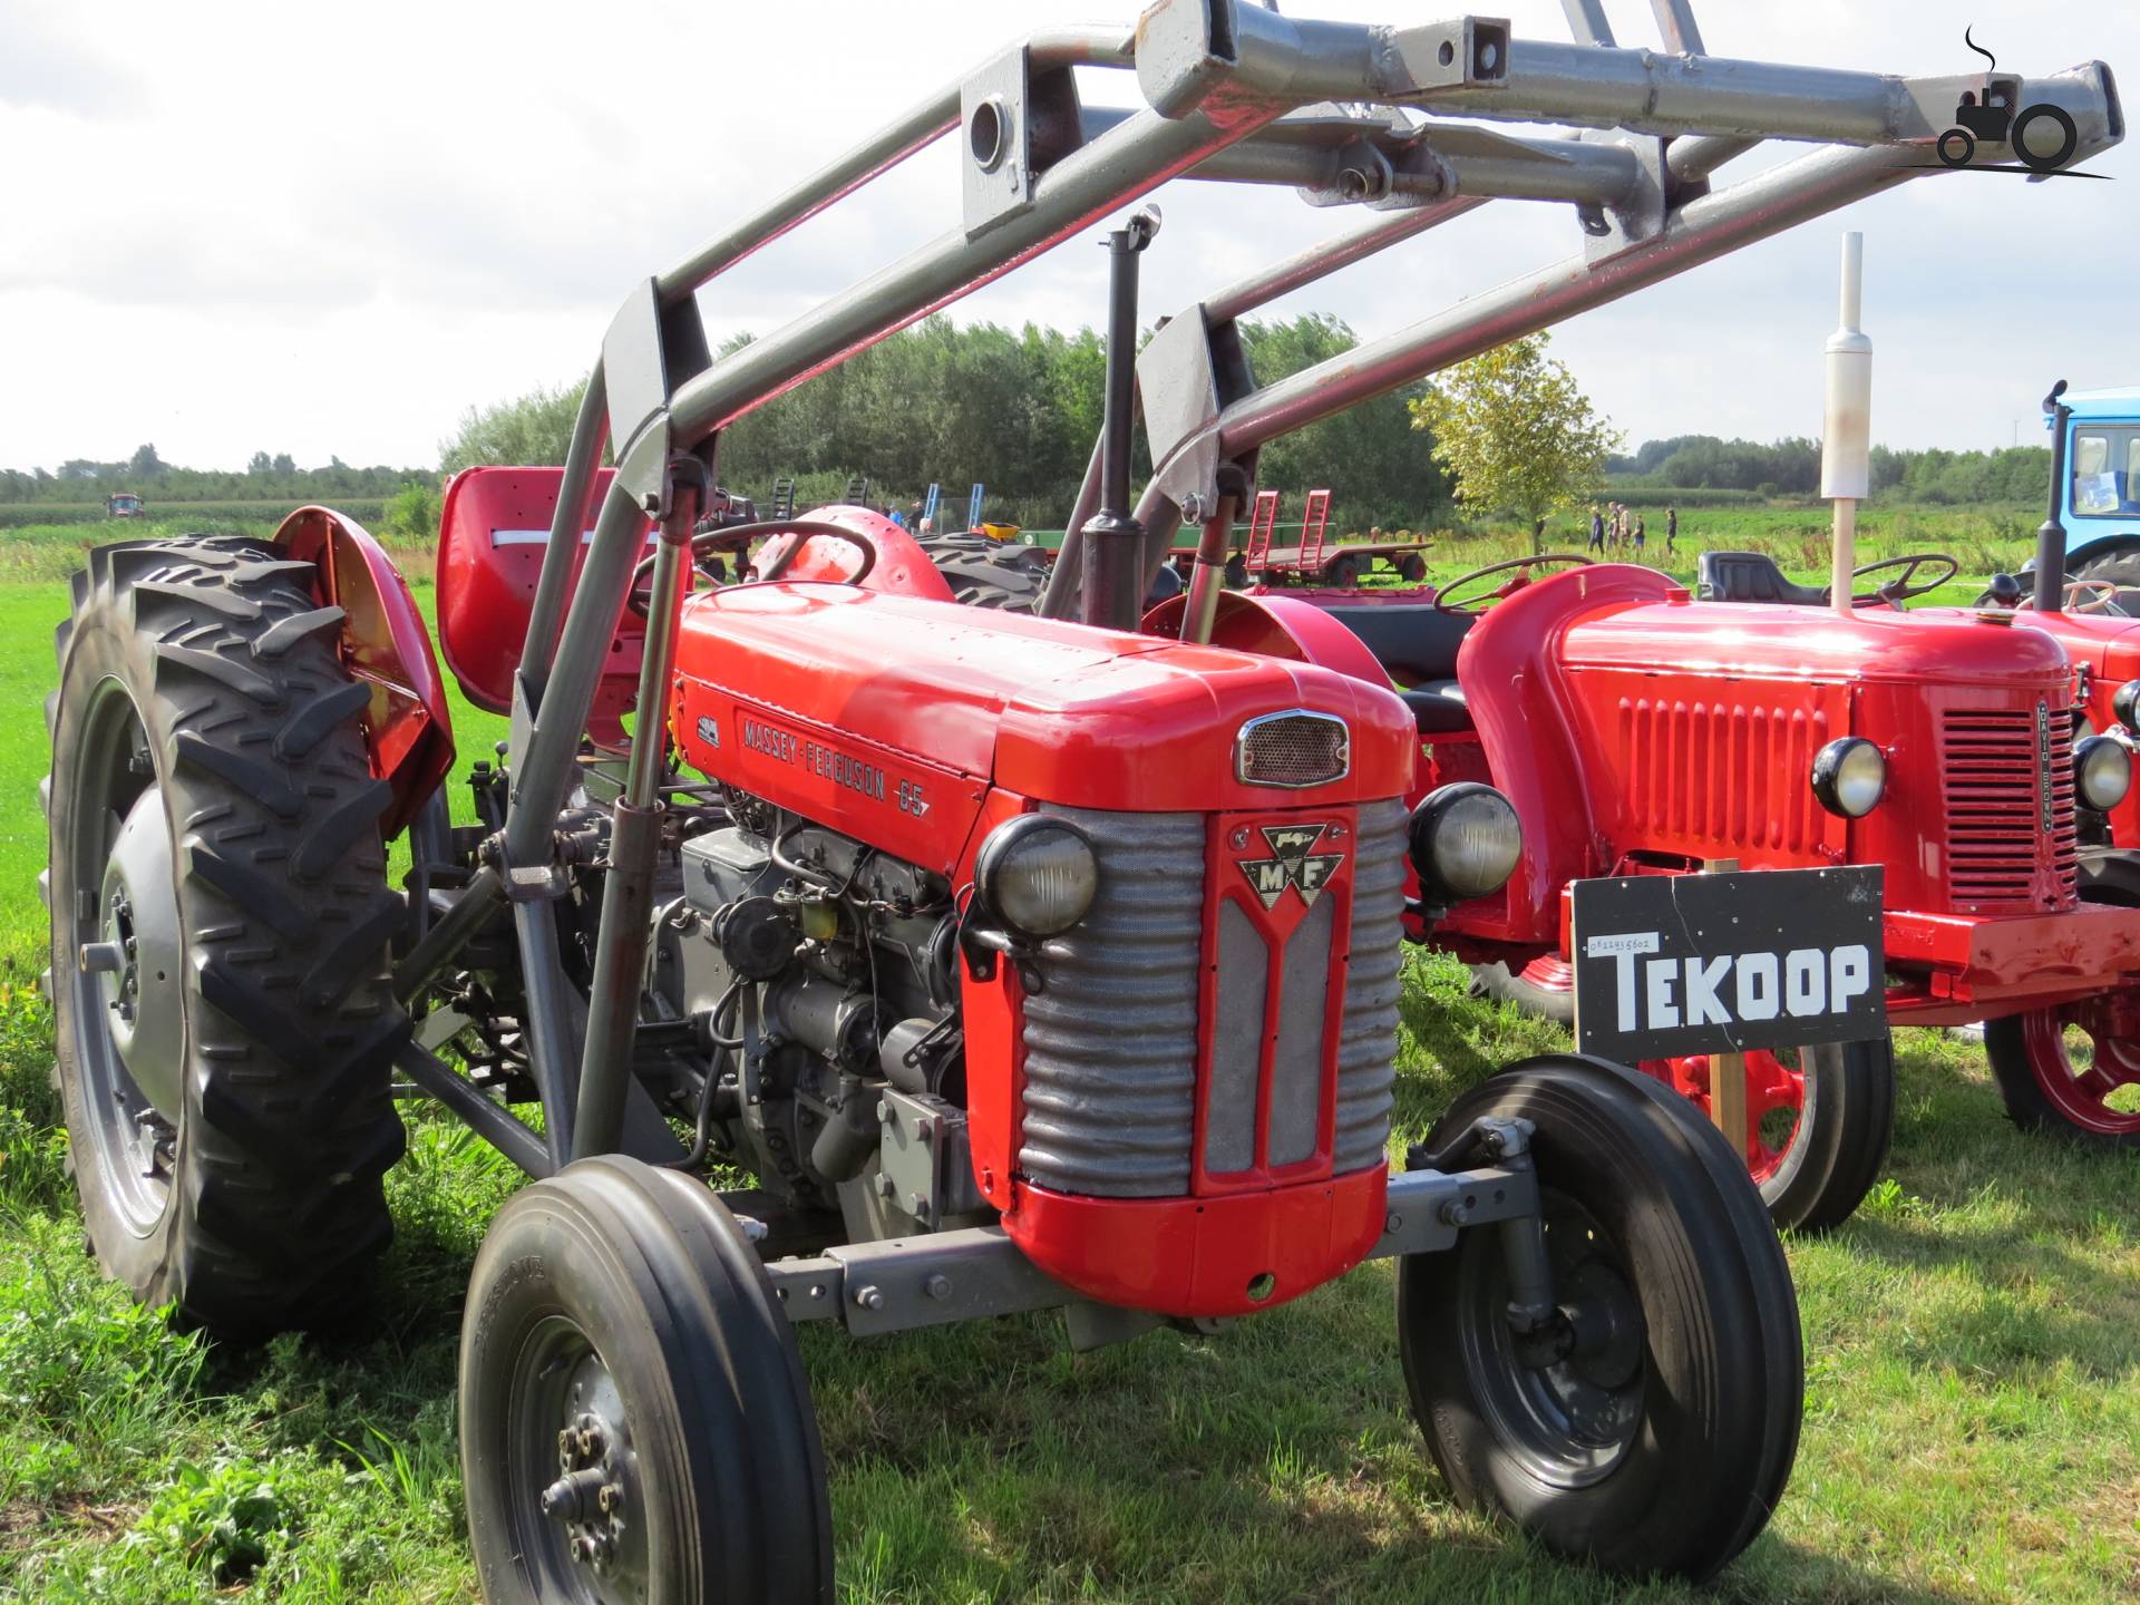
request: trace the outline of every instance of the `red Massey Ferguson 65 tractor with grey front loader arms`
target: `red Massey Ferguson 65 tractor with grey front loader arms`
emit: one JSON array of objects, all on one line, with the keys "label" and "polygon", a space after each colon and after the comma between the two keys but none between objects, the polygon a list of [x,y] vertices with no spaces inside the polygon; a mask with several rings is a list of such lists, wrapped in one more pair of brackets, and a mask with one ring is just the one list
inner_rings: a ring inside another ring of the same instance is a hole
[{"label": "red Massey Ferguson 65 tractor with grey front loader arms", "polygon": [[[1455,1498],[1618,1573],[1727,1564],[1783,1494],[1802,1402],[1738,1156],[1652,1081],[1556,1055],[1393,1168],[1400,939],[1494,892],[1517,811],[1479,783],[1408,807],[1406,700],[1198,640],[1203,586],[1183,640],[1134,629],[1179,516],[1216,539],[1241,452],[1327,372],[1248,389],[1177,319],[1143,357],[1164,511],[1126,516],[1138,216],[1111,235],[1098,511],[1051,576],[1074,623],[961,606],[852,507],[773,520],[747,582],[691,584],[725,424],[1168,178],[1573,201],[1601,255],[1522,291],[1549,319],[1896,182],[1954,103],[1950,79],[1699,58],[1684,6],[1661,15],[1678,56],[1237,0],[1036,34],[636,285],[563,471],[471,475],[447,511],[439,653],[511,715],[505,762],[469,775],[475,824],[439,790],[432,644],[355,522],[96,550],[58,631],[47,895],[105,1267],[235,1335],[360,1316],[398,1087],[526,1171],[460,1352],[492,1605],[832,1599],[798,1323],[1211,1333],[1365,1258],[1397,1260],[1408,1404]],[[1079,68],[1134,73],[1143,105],[1083,107]],[[2112,135],[2099,68],[2031,88],[2089,148]],[[704,285],[952,131],[959,227],[713,360]],[[1757,135],[1840,143],[1697,199],[1691,173]],[[1350,383],[1372,362],[1350,353]],[[1222,387],[1254,415],[1235,441]],[[1532,595],[1556,586],[1581,578]],[[1526,785],[1569,762],[1541,732]],[[1504,901],[1537,924],[1522,852]],[[1877,916],[1877,888],[1845,890],[1838,924]],[[1601,963],[1667,963],[1658,942],[1680,963],[1682,935],[1605,931]],[[1838,1014],[1868,987],[1862,937],[1733,963]],[[713,1166],[755,1186],[717,1192]]]}]

